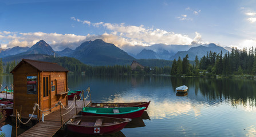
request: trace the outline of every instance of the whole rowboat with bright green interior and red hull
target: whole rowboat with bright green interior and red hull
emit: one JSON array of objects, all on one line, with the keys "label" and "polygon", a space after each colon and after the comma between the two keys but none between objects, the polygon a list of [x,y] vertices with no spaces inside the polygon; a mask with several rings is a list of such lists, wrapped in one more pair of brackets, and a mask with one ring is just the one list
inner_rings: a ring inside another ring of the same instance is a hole
[{"label": "whole rowboat with bright green interior and red hull", "polygon": [[108,116],[112,118],[137,118],[143,114],[145,107],[116,107],[116,108],[97,108],[84,107],[82,115]]}]

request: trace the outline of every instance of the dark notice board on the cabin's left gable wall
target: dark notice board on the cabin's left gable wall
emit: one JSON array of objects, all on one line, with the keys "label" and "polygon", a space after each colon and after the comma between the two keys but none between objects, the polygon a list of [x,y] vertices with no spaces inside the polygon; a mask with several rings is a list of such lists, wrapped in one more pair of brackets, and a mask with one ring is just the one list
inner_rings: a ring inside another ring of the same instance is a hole
[{"label": "dark notice board on the cabin's left gable wall", "polygon": [[37,94],[37,76],[27,76],[27,94]]}]

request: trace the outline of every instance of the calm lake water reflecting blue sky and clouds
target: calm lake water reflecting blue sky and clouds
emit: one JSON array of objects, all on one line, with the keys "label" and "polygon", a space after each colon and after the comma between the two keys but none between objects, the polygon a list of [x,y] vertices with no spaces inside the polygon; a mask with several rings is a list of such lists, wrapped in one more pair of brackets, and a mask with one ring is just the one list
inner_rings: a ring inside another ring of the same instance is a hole
[{"label": "calm lake water reflecting blue sky and clouds", "polygon": [[[3,85],[12,82],[11,76],[0,77]],[[183,84],[187,95],[176,95]],[[68,86],[90,86],[93,102],[151,100],[141,118],[111,136],[256,136],[255,80],[68,75]],[[11,127],[2,128],[7,136]]]}]

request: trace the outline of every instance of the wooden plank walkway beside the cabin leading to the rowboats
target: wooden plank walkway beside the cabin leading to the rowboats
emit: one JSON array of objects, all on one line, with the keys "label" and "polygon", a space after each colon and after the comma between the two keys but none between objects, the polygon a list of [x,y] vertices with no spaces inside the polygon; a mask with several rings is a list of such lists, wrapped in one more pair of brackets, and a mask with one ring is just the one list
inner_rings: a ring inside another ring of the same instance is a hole
[{"label": "wooden plank walkway beside the cabin leading to the rowboats", "polygon": [[[68,106],[72,104],[73,100],[68,101]],[[85,100],[85,106],[88,106],[90,103],[89,100]],[[77,112],[80,112],[83,107],[82,100],[77,101]],[[65,114],[69,110],[61,109],[61,113]],[[68,114],[62,116],[64,122],[68,122],[75,115],[75,108],[70,111]],[[45,116],[44,122],[37,123],[35,126],[29,128],[29,130],[23,132],[21,135],[22,137],[25,136],[53,136],[63,124],[61,124],[61,117],[60,117],[60,110],[54,111]]]}]

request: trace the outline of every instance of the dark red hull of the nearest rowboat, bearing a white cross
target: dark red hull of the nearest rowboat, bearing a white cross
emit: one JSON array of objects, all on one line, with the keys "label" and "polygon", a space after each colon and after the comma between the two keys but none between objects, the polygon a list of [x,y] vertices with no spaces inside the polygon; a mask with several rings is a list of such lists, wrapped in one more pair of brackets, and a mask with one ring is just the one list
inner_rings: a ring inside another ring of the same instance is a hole
[{"label": "dark red hull of the nearest rowboat, bearing a white cross", "polygon": [[[97,118],[103,118],[103,117],[97,117]],[[112,119],[116,119],[116,118],[112,118]],[[66,126],[68,130],[71,132],[77,132],[80,134],[90,134],[90,135],[103,135],[103,134],[115,133],[122,130],[129,121],[131,121],[131,119],[124,120],[124,122],[121,122],[121,123],[104,125],[104,126],[78,126],[78,125],[69,124],[69,123],[67,123]]]}]

